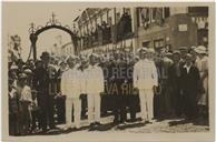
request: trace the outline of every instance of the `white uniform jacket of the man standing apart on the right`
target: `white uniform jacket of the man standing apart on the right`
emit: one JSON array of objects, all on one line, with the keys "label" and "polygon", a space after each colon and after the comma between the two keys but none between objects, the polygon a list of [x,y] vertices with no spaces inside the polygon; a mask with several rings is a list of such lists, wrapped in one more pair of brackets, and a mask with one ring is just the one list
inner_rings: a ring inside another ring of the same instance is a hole
[{"label": "white uniform jacket of the man standing apart on the right", "polygon": [[148,59],[138,61],[134,67],[134,87],[140,89],[153,89],[158,85],[158,74],[154,61]]}]

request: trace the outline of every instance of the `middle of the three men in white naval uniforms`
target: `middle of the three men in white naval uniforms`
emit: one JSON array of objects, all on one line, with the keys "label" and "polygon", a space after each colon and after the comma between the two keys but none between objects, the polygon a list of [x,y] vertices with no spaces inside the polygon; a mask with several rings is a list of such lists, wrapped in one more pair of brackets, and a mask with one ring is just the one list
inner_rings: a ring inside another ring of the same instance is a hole
[{"label": "middle of the three men in white naval uniforms", "polygon": [[90,126],[100,124],[100,93],[104,92],[104,72],[97,64],[97,54],[89,57],[89,67],[86,69],[86,92],[88,100],[88,121]]}]

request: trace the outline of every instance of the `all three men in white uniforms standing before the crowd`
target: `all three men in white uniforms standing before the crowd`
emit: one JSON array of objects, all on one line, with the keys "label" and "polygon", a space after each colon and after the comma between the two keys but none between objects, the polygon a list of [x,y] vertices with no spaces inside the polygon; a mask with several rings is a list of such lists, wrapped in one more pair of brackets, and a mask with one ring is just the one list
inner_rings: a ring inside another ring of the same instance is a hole
[{"label": "all three men in white uniforms standing before the crowd", "polygon": [[[134,88],[139,91],[141,119],[150,122],[154,118],[154,89],[158,85],[157,69],[153,61],[151,49],[138,50],[140,60],[134,68]],[[67,59],[68,70],[61,77],[61,94],[66,95],[66,126],[80,128],[81,100],[80,94],[87,94],[88,122],[100,124],[100,93],[105,90],[104,71],[97,64],[98,55],[89,55],[89,65],[85,70],[76,68],[76,58]],[[73,124],[72,124],[73,108]]]}]

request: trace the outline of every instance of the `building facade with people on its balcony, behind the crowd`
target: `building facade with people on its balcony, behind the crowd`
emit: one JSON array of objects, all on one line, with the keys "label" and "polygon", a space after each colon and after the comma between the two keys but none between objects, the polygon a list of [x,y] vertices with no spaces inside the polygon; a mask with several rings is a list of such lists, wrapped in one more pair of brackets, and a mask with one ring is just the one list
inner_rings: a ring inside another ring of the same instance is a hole
[{"label": "building facade with people on its balcony, behind the crowd", "polygon": [[207,7],[87,8],[75,23],[81,53],[208,45]]}]

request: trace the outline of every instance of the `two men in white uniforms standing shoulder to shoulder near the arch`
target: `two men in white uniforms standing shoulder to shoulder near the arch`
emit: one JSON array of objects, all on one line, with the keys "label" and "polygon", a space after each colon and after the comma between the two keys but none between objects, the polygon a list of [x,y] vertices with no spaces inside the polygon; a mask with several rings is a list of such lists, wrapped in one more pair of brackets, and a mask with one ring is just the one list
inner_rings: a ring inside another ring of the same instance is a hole
[{"label": "two men in white uniforms standing shoulder to shoulder near the arch", "polygon": [[[76,58],[67,59],[68,70],[61,77],[61,93],[66,95],[66,128],[80,128],[81,100],[85,93],[88,100],[88,122],[100,123],[100,93],[104,92],[104,72],[97,65],[97,54],[89,57],[89,65],[85,70],[76,68]],[[73,108],[73,124],[71,122]]]}]

